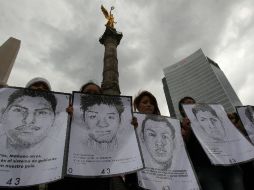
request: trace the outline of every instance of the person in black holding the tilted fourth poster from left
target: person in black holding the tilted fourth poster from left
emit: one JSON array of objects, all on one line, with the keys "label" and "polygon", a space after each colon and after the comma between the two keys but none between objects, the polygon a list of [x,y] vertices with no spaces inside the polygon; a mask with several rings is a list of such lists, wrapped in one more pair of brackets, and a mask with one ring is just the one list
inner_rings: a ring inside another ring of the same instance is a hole
[{"label": "person in black holding the tilted fourth poster from left", "polygon": [[214,166],[191,131],[190,121],[184,113],[183,104],[194,104],[191,97],[179,101],[179,111],[183,117],[181,127],[186,148],[203,190],[244,190],[242,170],[239,166]]}]

